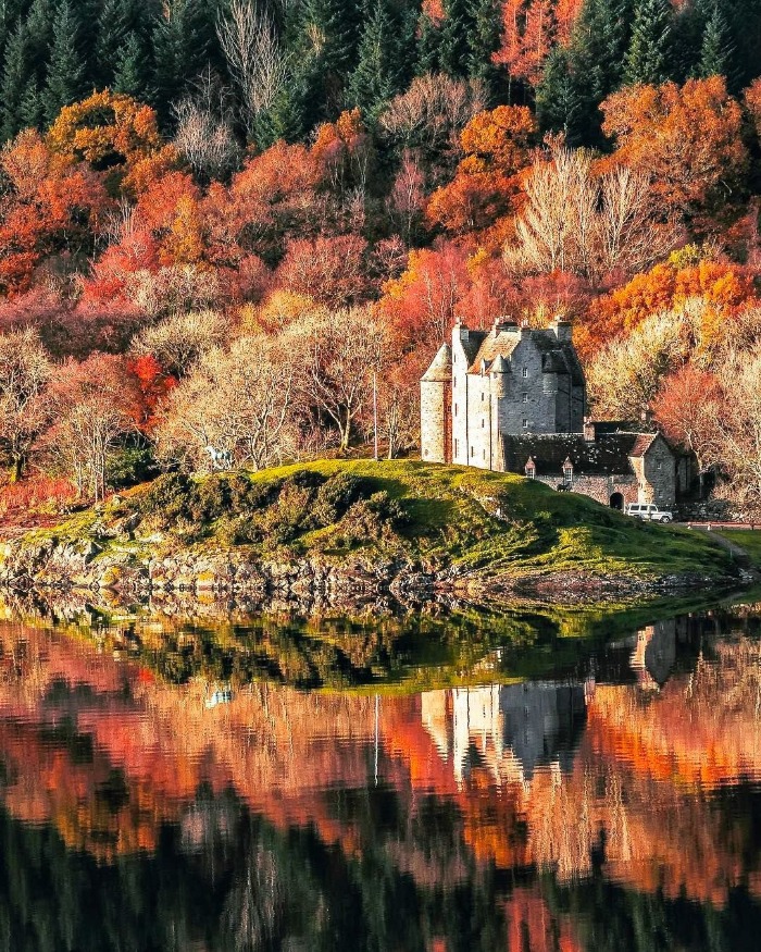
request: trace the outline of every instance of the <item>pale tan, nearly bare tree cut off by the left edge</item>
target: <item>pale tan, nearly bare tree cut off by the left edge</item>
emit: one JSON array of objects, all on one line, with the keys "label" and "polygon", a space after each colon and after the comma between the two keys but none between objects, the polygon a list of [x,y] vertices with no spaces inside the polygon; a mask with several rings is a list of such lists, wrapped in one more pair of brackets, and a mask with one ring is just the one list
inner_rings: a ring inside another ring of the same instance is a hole
[{"label": "pale tan, nearly bare tree cut off by the left edge", "polygon": [[32,446],[49,422],[46,390],[52,372],[35,331],[0,334],[0,446],[12,482],[24,474]]}]

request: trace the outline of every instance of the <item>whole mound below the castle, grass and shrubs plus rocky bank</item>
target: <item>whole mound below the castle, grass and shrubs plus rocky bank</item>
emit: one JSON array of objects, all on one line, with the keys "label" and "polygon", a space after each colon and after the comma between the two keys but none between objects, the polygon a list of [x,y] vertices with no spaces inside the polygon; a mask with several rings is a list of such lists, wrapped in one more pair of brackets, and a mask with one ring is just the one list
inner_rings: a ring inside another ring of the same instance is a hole
[{"label": "whole mound below the castle, grass and shrubs plus rocky bank", "polygon": [[8,542],[16,584],[240,590],[392,583],[613,589],[728,581],[725,552],[510,474],[319,461],[170,474]]}]

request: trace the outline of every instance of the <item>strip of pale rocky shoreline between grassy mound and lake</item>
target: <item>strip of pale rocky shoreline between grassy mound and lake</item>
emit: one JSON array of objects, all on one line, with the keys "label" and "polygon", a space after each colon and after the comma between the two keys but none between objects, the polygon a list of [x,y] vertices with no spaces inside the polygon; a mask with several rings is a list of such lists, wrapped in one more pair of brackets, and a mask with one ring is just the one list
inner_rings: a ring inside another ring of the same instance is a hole
[{"label": "strip of pale rocky shoreline between grassy mound and lake", "polygon": [[0,543],[0,589],[12,592],[114,592],[138,599],[162,593],[261,601],[324,599],[390,595],[402,601],[457,595],[469,601],[534,598],[594,601],[681,595],[746,586],[752,572],[737,567],[725,578],[697,572],[643,579],[585,571],[515,573],[488,567],[464,570],[436,561],[404,558],[262,558],[245,547],[189,546],[158,554],[146,546],[101,546],[93,540],[28,537]]}]

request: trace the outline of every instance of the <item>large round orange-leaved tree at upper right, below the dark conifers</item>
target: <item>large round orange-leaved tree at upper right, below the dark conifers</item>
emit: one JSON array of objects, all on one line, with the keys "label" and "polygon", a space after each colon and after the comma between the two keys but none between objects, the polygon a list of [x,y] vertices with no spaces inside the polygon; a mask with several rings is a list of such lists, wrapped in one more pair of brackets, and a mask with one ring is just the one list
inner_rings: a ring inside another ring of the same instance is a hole
[{"label": "large round orange-leaved tree at upper right, below the dark conifers", "polygon": [[722,76],[682,87],[632,86],[600,109],[602,128],[616,145],[612,161],[649,174],[666,211],[696,214],[743,182],[743,113]]}]

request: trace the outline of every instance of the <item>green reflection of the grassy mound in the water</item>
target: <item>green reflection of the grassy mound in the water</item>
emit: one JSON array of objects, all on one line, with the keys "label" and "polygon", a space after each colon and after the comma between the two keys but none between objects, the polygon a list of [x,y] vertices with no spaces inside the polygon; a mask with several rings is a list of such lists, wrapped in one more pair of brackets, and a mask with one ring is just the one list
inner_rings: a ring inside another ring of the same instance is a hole
[{"label": "green reflection of the grassy mound in the water", "polygon": [[[160,680],[240,688],[253,682],[300,689],[409,694],[435,688],[556,678],[588,670],[601,645],[695,599],[661,599],[639,607],[537,605],[491,610],[473,606],[425,613],[236,616],[228,623],[136,615],[91,619],[67,630],[107,654],[139,660]],[[39,622],[37,622],[39,623]],[[60,630],[60,622],[58,623]],[[104,640],[104,641],[103,641]]]}]

